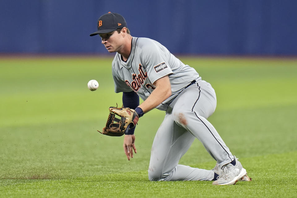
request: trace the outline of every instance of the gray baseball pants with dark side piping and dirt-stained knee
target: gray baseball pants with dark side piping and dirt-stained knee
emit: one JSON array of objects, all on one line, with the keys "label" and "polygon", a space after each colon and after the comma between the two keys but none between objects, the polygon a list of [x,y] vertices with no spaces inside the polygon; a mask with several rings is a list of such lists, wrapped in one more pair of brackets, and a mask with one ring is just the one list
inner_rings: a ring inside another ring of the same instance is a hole
[{"label": "gray baseball pants with dark side piping and dirt-stained knee", "polygon": [[206,119],[213,114],[216,105],[215,91],[204,80],[185,88],[174,99],[153,141],[149,180],[212,180],[214,172],[211,170],[178,164],[195,138],[201,141],[220,168],[234,159],[216,129]]}]

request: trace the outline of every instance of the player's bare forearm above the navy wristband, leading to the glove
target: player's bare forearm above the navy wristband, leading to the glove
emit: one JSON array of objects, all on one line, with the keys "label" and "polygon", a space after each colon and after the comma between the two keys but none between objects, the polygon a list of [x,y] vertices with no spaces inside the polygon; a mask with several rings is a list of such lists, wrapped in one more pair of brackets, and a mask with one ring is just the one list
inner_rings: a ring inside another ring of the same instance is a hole
[{"label": "player's bare forearm above the navy wristband, leading to the glove", "polygon": [[[170,84],[169,84],[170,85]],[[144,113],[156,108],[168,97],[171,96],[170,86],[157,86],[156,89],[151,93],[151,95],[139,105]]]}]

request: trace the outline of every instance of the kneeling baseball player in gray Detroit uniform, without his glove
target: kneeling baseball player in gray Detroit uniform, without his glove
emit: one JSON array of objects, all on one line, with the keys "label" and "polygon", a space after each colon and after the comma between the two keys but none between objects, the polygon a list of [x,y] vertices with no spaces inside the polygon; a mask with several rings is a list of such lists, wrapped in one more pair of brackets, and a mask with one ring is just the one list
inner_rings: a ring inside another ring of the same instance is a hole
[{"label": "kneeling baseball player in gray Detroit uniform, without his glove", "polygon": [[[90,36],[99,34],[107,51],[116,52],[112,75],[115,92],[123,93],[123,106],[134,109],[139,118],[154,108],[166,111],[152,145],[149,180],[214,180],[213,185],[250,181],[207,120],[216,108],[216,94],[194,68],[157,41],[132,37],[120,14],[102,15],[97,29]],[[139,97],[144,101],[141,104]],[[128,160],[133,157],[133,150],[136,153],[134,130],[135,127],[125,132],[123,146]],[[195,138],[216,160],[213,170],[178,164]]]}]

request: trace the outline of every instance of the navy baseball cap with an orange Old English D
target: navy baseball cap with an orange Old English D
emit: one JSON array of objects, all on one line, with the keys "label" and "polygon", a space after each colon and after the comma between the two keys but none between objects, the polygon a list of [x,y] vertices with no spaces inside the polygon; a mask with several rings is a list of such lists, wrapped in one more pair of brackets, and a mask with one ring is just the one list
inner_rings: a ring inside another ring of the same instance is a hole
[{"label": "navy baseball cap with an orange Old English D", "polygon": [[118,28],[127,28],[127,23],[124,17],[118,13],[108,12],[105,15],[102,15],[98,19],[98,31],[90,34],[90,37],[95,36],[97,34],[104,34],[108,32],[113,32]]}]

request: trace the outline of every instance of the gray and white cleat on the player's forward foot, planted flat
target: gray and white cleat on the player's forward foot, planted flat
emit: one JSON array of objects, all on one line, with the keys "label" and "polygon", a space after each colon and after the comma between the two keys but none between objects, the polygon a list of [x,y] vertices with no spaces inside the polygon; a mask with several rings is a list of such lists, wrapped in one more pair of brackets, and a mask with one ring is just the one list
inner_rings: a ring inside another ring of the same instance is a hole
[{"label": "gray and white cleat on the player's forward foot, planted flat", "polygon": [[217,180],[213,182],[213,185],[233,185],[239,180],[247,179],[245,176],[247,176],[247,171],[235,157],[235,166],[230,163],[223,166]]}]

